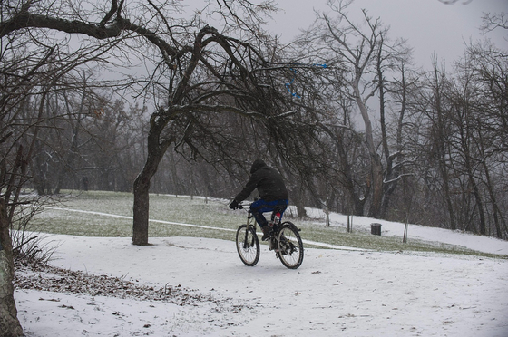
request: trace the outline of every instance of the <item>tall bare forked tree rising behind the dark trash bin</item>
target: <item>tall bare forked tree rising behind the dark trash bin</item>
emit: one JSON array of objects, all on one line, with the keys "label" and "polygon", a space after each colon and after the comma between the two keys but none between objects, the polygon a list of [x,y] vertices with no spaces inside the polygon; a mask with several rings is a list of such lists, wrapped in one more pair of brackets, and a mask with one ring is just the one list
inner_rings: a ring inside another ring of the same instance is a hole
[{"label": "tall bare forked tree rising behind the dark trash bin", "polygon": [[[327,59],[327,64],[337,68],[339,83],[336,89],[336,100],[354,101],[357,111],[365,125],[364,144],[369,157],[369,174],[366,177],[367,195],[357,199],[370,198],[370,217],[381,217],[387,205],[390,187],[395,188],[399,175],[394,168],[393,159],[388,148],[384,100],[386,91],[386,72],[396,71],[393,66],[396,56],[400,56],[398,42],[389,44],[387,29],[380,19],[368,16],[362,11],[363,23],[355,24],[347,13],[351,1],[330,1],[331,14],[319,14],[317,24],[308,30],[304,41],[313,43],[314,53]],[[373,111],[369,101],[380,99],[380,116],[382,130],[381,144],[385,158],[390,165],[390,172],[385,180],[383,158],[378,151],[373,119]],[[386,186],[385,181],[388,181]],[[352,186],[352,184],[349,184]],[[351,189],[351,188],[350,188]],[[365,202],[365,201],[364,201]]]}]

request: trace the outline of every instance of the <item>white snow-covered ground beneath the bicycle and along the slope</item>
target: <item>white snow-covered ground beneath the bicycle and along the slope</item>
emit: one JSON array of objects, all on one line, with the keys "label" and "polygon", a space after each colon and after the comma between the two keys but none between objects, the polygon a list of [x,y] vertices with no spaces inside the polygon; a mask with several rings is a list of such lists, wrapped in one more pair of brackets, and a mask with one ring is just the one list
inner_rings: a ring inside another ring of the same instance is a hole
[{"label": "white snow-covered ground beneath the bicycle and along the slope", "polygon": [[[404,230],[380,223],[383,235]],[[508,252],[505,241],[435,228],[411,226],[409,236]],[[266,246],[258,265],[243,265],[232,241],[51,239],[61,243],[54,266],[155,288],[181,285],[209,300],[179,305],[16,290],[28,336],[508,336],[505,259],[309,248],[303,265],[289,270]]]}]

